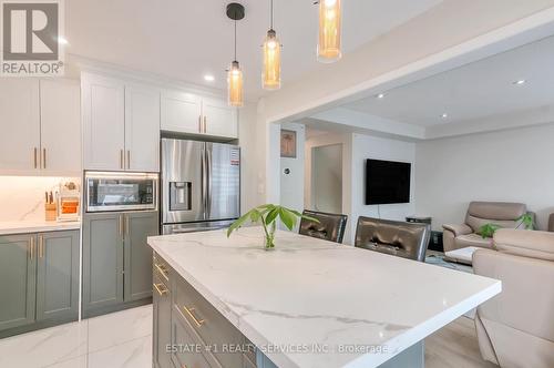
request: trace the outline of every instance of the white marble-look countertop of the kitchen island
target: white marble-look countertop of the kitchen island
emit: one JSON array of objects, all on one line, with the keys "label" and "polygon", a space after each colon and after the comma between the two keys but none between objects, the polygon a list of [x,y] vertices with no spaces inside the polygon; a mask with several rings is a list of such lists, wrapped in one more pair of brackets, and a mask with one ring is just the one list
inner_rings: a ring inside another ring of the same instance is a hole
[{"label": "white marble-look countertop of the kitchen island", "polygon": [[501,292],[495,279],[261,228],[148,244],[281,368],[378,367]]}]

